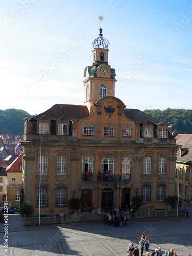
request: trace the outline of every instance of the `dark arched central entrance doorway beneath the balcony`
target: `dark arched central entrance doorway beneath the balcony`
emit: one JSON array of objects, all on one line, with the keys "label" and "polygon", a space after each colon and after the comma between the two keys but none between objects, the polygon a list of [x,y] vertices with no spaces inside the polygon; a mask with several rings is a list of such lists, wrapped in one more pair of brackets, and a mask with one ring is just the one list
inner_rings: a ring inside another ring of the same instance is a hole
[{"label": "dark arched central entrance doorway beneath the balcony", "polygon": [[101,210],[109,211],[113,209],[113,189],[102,190]]}]

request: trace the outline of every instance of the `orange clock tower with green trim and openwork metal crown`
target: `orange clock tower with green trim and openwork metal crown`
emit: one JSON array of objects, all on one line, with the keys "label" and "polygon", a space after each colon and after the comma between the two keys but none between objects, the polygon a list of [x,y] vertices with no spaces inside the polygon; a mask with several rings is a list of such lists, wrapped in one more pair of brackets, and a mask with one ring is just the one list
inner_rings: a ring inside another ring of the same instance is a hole
[{"label": "orange clock tower with green trim and openwork metal crown", "polygon": [[103,37],[102,28],[93,43],[93,64],[84,70],[84,104],[90,114],[93,104],[106,96],[115,96],[115,69],[108,64],[109,41]]}]

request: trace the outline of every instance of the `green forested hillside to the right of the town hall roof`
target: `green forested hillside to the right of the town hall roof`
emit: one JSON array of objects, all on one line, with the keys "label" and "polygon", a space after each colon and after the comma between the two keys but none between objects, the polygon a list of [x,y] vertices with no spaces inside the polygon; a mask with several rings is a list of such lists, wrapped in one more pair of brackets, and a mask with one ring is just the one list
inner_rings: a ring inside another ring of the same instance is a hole
[{"label": "green forested hillside to the right of the town hall roof", "polygon": [[173,124],[173,131],[178,130],[182,134],[192,134],[192,110],[170,109],[144,110],[144,113],[153,116],[160,121]]}]

